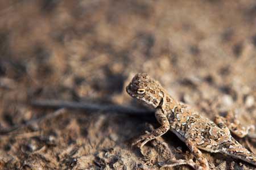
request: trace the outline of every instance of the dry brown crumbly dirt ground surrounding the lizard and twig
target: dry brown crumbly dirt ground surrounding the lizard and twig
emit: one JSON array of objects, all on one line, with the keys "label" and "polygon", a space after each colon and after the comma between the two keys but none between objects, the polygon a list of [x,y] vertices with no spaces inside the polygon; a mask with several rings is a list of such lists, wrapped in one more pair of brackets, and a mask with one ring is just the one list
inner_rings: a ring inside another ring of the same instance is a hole
[{"label": "dry brown crumbly dirt ground surrounding the lizard and twig", "polygon": [[[32,107],[35,100],[142,108],[125,92],[148,73],[208,118],[235,109],[256,125],[256,3],[240,1],[0,1],[0,169],[159,169],[191,159],[172,133],[131,147],[152,115]],[[216,101],[219,104],[214,105]],[[40,119],[41,118],[41,119]],[[35,123],[25,125],[31,120]],[[14,131],[5,132],[23,125]],[[256,151],[256,141],[238,139]],[[212,169],[255,169],[204,152]],[[187,166],[176,169],[189,169]]]}]

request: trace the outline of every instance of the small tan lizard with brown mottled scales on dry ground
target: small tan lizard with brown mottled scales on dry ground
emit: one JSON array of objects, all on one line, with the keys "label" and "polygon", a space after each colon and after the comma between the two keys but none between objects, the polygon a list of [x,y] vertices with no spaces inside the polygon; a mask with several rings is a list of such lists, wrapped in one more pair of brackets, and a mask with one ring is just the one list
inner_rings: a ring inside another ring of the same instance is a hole
[{"label": "small tan lizard with brown mottled scales on dry ground", "polygon": [[[200,116],[187,105],[175,100],[158,81],[146,73],[138,73],[126,87],[126,92],[135,99],[155,108],[156,120],[161,125],[151,133],[141,135],[132,145],[141,148],[148,142],[162,136],[168,130],[187,145],[199,162],[197,169],[209,169],[209,163],[201,150],[229,155],[235,159],[256,166],[256,155],[248,151],[231,135],[245,137],[249,128],[243,127],[232,116],[216,116],[215,122]],[[238,128],[241,130],[238,130]],[[231,131],[231,133],[230,133]],[[180,162],[180,165],[184,164]],[[179,163],[176,162],[176,165]],[[164,167],[172,165],[164,165]]]}]

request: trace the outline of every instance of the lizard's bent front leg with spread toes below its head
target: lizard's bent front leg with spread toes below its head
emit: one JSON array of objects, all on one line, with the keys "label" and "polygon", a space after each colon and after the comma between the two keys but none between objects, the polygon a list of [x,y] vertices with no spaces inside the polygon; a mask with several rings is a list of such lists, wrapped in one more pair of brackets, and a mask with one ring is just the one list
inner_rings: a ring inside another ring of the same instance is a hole
[{"label": "lizard's bent front leg with spread toes below its head", "polygon": [[139,142],[142,142],[139,146],[139,148],[142,149],[142,147],[148,142],[151,141],[152,139],[155,139],[159,136],[162,136],[163,134],[165,134],[169,129],[170,129],[170,124],[168,121],[168,118],[166,117],[166,115],[163,113],[162,109],[156,108],[155,111],[155,117],[158,120],[158,122],[162,125],[160,126],[158,129],[153,130],[151,133],[148,134],[144,134],[141,137],[139,137],[138,139],[136,139],[132,145],[136,145]]}]

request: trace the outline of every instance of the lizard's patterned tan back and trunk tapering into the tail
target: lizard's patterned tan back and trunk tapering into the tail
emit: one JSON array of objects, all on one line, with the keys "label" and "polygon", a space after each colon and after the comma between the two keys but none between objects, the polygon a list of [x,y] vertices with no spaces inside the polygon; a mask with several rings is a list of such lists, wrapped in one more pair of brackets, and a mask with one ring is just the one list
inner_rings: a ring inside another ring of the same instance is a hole
[{"label": "lizard's patterned tan back and trunk tapering into the tail", "polygon": [[183,109],[180,113],[174,114],[174,117],[170,117],[170,122],[170,130],[182,141],[189,139],[195,142],[197,148],[201,150],[228,154],[233,158],[256,165],[255,154],[248,151],[230,134],[227,134],[208,118]]}]

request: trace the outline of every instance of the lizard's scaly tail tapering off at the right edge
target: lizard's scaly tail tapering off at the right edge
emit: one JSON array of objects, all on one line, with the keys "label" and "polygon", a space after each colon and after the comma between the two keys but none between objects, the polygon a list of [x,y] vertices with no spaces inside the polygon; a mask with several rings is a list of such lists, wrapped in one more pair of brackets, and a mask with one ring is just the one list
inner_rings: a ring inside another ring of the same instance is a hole
[{"label": "lizard's scaly tail tapering off at the right edge", "polygon": [[229,148],[222,148],[222,154],[227,154],[236,159],[241,159],[247,163],[256,165],[256,155],[248,151],[246,148],[242,146],[232,146]]}]

